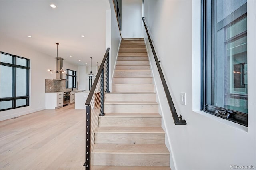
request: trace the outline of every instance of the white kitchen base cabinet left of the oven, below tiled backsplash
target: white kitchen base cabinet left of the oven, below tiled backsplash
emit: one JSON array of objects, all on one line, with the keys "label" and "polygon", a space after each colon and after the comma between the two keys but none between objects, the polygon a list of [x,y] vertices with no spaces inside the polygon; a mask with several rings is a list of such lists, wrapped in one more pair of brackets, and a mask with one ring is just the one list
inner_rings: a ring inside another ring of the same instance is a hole
[{"label": "white kitchen base cabinet left of the oven, below tiled backsplash", "polygon": [[45,109],[56,109],[63,105],[63,92],[45,93]]}]

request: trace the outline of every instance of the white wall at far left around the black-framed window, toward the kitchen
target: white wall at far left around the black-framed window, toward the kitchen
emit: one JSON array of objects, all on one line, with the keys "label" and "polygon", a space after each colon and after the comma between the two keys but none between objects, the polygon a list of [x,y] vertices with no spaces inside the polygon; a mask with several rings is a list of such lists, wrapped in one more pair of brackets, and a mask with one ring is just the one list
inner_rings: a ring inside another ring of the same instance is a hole
[{"label": "white wall at far left around the black-framed window, toward the kitchen", "polygon": [[[23,43],[4,41],[1,42],[1,51],[30,59],[30,105],[17,109],[0,112],[0,121],[26,115],[45,109],[45,79],[54,79],[55,74],[50,74],[47,69],[56,68],[55,54],[46,56],[27,47]],[[64,69],[78,71],[78,67],[63,61]]]}]

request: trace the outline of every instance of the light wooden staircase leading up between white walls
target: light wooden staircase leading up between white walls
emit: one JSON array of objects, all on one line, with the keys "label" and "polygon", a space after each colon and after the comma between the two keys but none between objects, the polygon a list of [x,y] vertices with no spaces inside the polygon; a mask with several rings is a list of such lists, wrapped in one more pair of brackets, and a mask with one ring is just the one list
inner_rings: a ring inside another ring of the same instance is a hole
[{"label": "light wooden staircase leading up between white walls", "polygon": [[92,170],[170,170],[143,38],[122,39],[104,112],[95,135]]}]

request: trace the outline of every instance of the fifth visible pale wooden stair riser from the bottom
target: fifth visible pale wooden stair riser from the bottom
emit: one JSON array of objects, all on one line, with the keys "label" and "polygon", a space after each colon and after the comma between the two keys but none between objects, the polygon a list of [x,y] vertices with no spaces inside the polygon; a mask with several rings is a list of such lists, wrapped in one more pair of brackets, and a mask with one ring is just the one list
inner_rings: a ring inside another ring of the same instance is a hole
[{"label": "fifth visible pale wooden stair riser from the bottom", "polygon": [[107,93],[106,101],[156,101],[156,94]]}]

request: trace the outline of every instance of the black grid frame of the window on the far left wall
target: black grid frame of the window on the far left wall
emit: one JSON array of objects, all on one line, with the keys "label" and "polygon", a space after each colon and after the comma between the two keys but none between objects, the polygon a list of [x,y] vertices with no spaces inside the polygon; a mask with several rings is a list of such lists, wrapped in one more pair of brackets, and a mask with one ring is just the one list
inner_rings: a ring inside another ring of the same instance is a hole
[{"label": "black grid frame of the window on the far left wall", "polygon": [[[4,63],[1,62],[1,65],[3,66],[7,66],[7,67],[12,67],[12,97],[3,97],[0,99],[0,101],[12,101],[12,107],[10,108],[6,108],[6,109],[1,109],[0,111],[6,111],[6,110],[10,110],[10,109],[16,109],[16,108],[20,108],[20,107],[26,107],[29,106],[29,88],[30,88],[30,83],[29,83],[29,72],[30,72],[30,67],[29,67],[29,63],[30,63],[30,59],[24,58],[24,57],[20,57],[17,55],[12,55],[9,53],[5,53],[1,51],[1,54],[5,54],[5,55],[10,55],[12,56],[12,64],[10,63]],[[16,64],[16,60],[17,58],[20,59],[25,59],[27,61],[27,66],[22,66],[22,65],[17,65]],[[17,68],[22,68],[22,69],[26,69],[26,96],[16,96],[16,86],[17,86]],[[22,105],[22,106],[16,106],[16,100],[18,99],[26,99],[26,105]]]}]

